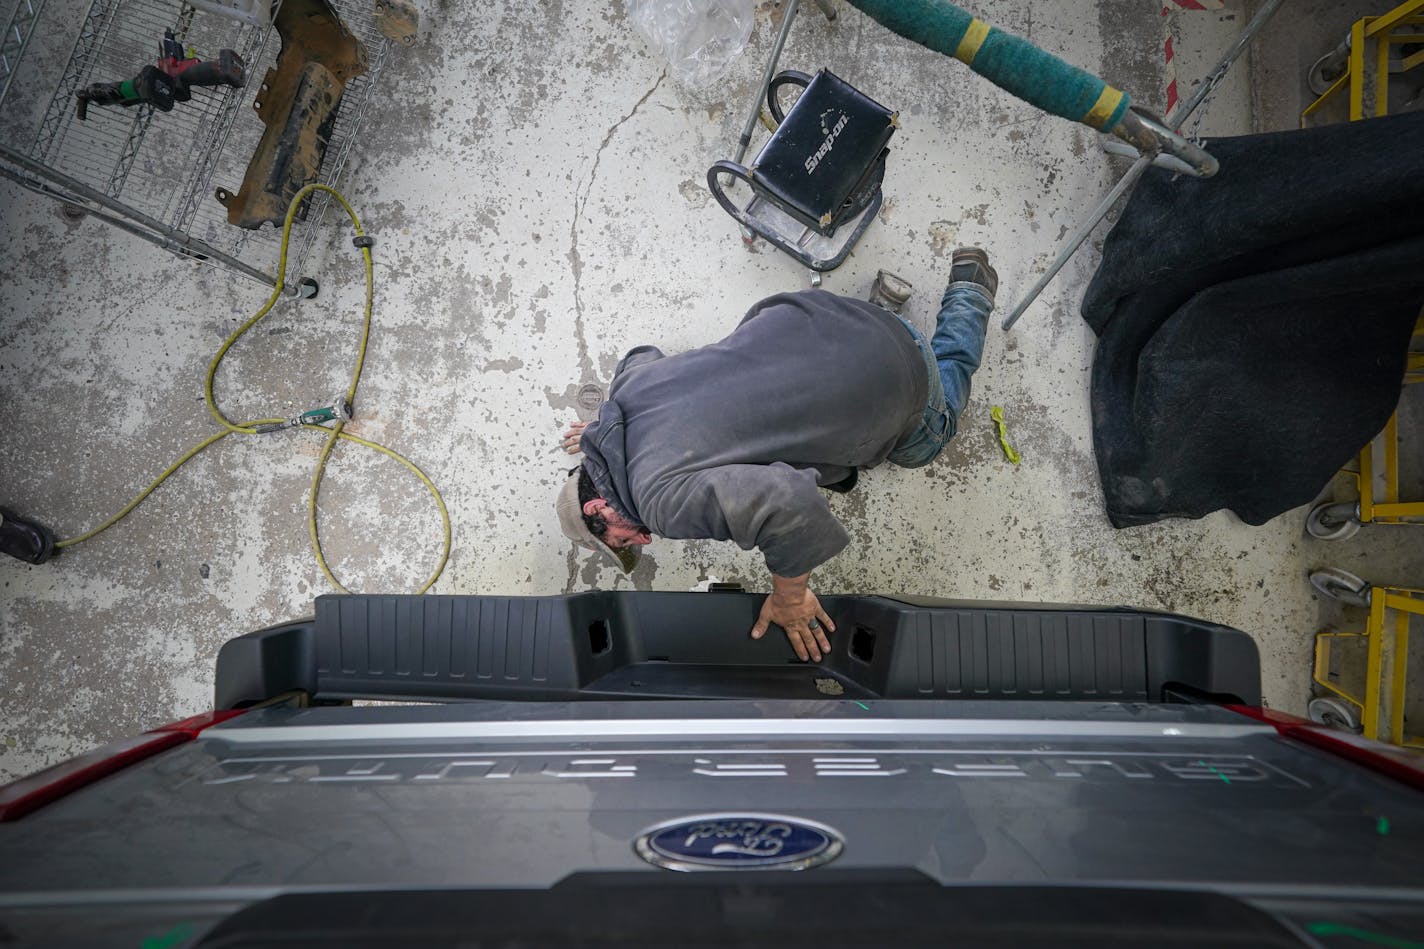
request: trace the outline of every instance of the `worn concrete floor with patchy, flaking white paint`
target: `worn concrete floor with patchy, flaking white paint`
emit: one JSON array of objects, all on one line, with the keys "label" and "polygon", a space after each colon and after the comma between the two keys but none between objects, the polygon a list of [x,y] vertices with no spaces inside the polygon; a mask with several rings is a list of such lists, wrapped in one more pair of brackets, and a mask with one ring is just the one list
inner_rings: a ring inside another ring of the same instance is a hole
[{"label": "worn concrete floor with patchy, flaking white paint", "polygon": [[[806,4],[783,66],[829,66],[899,108],[903,128],[880,219],[826,288],[863,295],[877,268],[893,269],[917,288],[909,316],[928,326],[950,251],[980,244],[1011,304],[1121,160],[1088,130],[840,6],[827,23]],[[980,0],[975,11],[1161,107],[1161,6]],[[68,23],[80,9],[51,0],[46,16]],[[1246,13],[1227,0],[1175,17],[1183,91]],[[769,588],[759,556],[731,544],[658,541],[631,579],[578,556],[554,519],[568,460],[551,449],[578,415],[580,385],[607,383],[631,346],[716,341],[753,301],[806,284],[783,255],[742,247],[703,180],[732,152],[780,16],[759,3],[723,84],[688,91],[621,3],[422,9],[420,40],[389,64],[342,188],[377,241],[352,430],[403,452],[444,492],[454,551],[436,591],[686,590],[709,577]],[[1280,101],[1299,95],[1299,71],[1279,63],[1313,58],[1300,51],[1317,43],[1302,38],[1310,28],[1282,26],[1276,58],[1239,66],[1202,131],[1287,127],[1273,123],[1292,115]],[[1276,78],[1263,88],[1253,74]],[[68,221],[9,182],[0,219],[0,500],[74,536],[214,430],[204,370],[265,289]],[[832,499],[853,543],[813,584],[1203,617],[1252,633],[1267,702],[1300,712],[1321,621],[1306,571],[1340,563],[1417,581],[1420,544],[1407,529],[1367,529],[1326,549],[1304,537],[1306,509],[1263,527],[1218,513],[1112,530],[1089,437],[1094,339],[1077,315],[1095,265],[1085,248],[1014,331],[995,321],[961,435],[934,465],[877,469]],[[308,269],[322,296],[283,302],[225,363],[234,418],[295,413],[342,388],[360,304],[346,232],[332,228]],[[1017,467],[990,405],[1005,408]],[[318,446],[302,433],[228,439],[60,560],[0,563],[0,778],[208,708],[224,641],[312,611],[328,591],[305,527]],[[413,591],[439,544],[420,484],[347,447],[322,492],[322,530],[357,591]]]}]

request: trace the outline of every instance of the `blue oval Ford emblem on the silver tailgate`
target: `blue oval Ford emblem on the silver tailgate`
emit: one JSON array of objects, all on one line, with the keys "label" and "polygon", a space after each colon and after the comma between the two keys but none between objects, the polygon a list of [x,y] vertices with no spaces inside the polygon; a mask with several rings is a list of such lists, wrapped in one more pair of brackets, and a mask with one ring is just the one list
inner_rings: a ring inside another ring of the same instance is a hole
[{"label": "blue oval Ford emblem on the silver tailgate", "polygon": [[675,871],[806,869],[843,848],[829,826],[776,814],[703,814],[658,824],[634,841],[638,856]]}]

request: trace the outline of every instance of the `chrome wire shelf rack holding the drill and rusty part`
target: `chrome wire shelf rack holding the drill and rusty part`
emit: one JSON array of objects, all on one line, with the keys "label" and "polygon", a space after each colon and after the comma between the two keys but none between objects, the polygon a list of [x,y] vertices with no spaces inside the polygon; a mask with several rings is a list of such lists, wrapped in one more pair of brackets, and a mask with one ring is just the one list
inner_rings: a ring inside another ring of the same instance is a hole
[{"label": "chrome wire shelf rack holding the drill and rusty part", "polygon": [[[347,83],[342,97],[322,164],[323,184],[340,177],[390,46],[377,28],[372,0],[330,3],[346,28],[366,44],[369,58],[367,71]],[[276,28],[195,10],[181,0],[93,0],[78,20],[66,61],[53,34],[74,27],[63,24],[66,11],[54,10],[57,6],[63,0],[16,0],[4,21],[0,175],[175,255],[212,261],[275,285],[276,274],[265,268],[276,266],[281,228],[229,225],[214,191],[218,185],[236,191],[262,138],[252,103],[281,50]],[[90,83],[131,78],[154,63],[164,30],[172,30],[199,58],[215,57],[221,48],[236,50],[246,64],[246,87],[197,87],[189,101],[177,103],[169,113],[151,105],[91,105],[87,120],[78,121],[75,93]],[[36,43],[37,34],[50,41]],[[48,105],[40,113],[46,93]],[[27,150],[19,147],[24,140]],[[293,224],[286,281],[292,292],[302,292],[299,275],[329,204],[328,194],[315,195],[306,221]]]}]

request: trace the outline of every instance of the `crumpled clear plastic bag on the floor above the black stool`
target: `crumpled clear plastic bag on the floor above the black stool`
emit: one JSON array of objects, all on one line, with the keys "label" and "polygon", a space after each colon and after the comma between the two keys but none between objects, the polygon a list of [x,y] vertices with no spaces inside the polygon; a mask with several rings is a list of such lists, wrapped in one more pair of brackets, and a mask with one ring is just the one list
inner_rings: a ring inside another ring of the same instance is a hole
[{"label": "crumpled clear plastic bag on the floor above the black stool", "polygon": [[755,0],[628,0],[628,19],[676,83],[701,88],[746,48]]}]

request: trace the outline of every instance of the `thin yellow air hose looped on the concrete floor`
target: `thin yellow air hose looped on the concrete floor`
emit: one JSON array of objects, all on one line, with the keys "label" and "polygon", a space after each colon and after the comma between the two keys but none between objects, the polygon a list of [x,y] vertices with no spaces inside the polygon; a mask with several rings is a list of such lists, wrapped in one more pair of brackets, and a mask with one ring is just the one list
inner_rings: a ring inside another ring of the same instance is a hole
[{"label": "thin yellow air hose looped on the concrete floor", "polygon": [[[142,492],[138,493],[137,497],[134,497],[134,500],[124,504],[122,510],[120,510],[117,514],[105,520],[94,530],[90,530],[88,533],[80,534],[78,537],[70,537],[68,540],[56,541],[54,544],[56,547],[73,547],[74,544],[83,543],[108,530],[110,527],[121,522],[124,517],[127,517],[128,513],[132,512],[135,507],[138,507],[145,497],[152,494],[159,484],[168,480],[179,467],[187,465],[194,456],[197,456],[209,445],[221,442],[229,435],[261,435],[256,426],[286,422],[286,419],[253,419],[242,425],[235,425],[228,419],[228,416],[222,415],[222,410],[218,408],[216,396],[214,396],[212,393],[212,388],[214,388],[214,380],[218,376],[218,366],[222,365],[222,359],[224,356],[228,355],[228,351],[232,349],[234,343],[242,339],[244,333],[256,326],[258,322],[272,311],[272,306],[282,295],[282,288],[286,284],[286,245],[292,238],[292,221],[296,218],[296,209],[302,205],[302,201],[305,201],[309,195],[312,195],[316,191],[325,191],[330,194],[336,199],[336,202],[340,204],[342,208],[346,211],[346,215],[352,219],[352,227],[356,229],[356,238],[357,238],[356,245],[360,248],[362,261],[366,266],[366,313],[362,322],[360,346],[356,351],[356,365],[352,368],[352,380],[350,385],[346,388],[346,402],[347,403],[356,402],[356,386],[360,385],[360,372],[362,368],[366,365],[366,345],[370,341],[370,315],[376,289],[375,288],[376,282],[370,261],[370,244],[367,241],[360,239],[366,237],[366,232],[362,231],[360,219],[356,217],[356,212],[352,211],[350,204],[346,202],[346,198],[343,198],[339,191],[322,184],[306,185],[305,188],[296,192],[296,197],[292,198],[292,204],[286,209],[286,221],[282,224],[282,254],[278,258],[276,286],[272,288],[272,295],[268,296],[268,301],[266,304],[262,305],[262,309],[249,316],[246,322],[238,326],[238,329],[224,341],[222,346],[212,358],[212,362],[208,365],[208,378],[204,382],[204,396],[206,398],[208,402],[208,412],[212,415],[214,419],[216,419],[218,425],[222,426],[222,430],[209,435],[202,442],[188,449],[182,455],[182,457],[179,457],[177,462],[165,467],[162,474],[155,477],[148,487],[145,487]],[[446,510],[444,499],[440,497],[440,489],[434,486],[434,482],[431,482],[424,472],[416,467],[416,465],[410,459],[402,456],[400,453],[393,452],[384,445],[377,445],[376,442],[370,442],[346,432],[345,430],[346,422],[343,419],[336,419],[330,427],[325,425],[315,425],[305,422],[298,427],[312,429],[316,432],[322,432],[325,435],[322,452],[316,459],[316,469],[312,472],[312,490],[308,493],[308,500],[306,500],[306,527],[312,537],[312,553],[316,554],[316,564],[322,569],[322,573],[326,576],[326,579],[330,580],[332,586],[340,590],[342,593],[349,593],[349,590],[346,590],[346,587],[342,586],[340,580],[337,580],[336,576],[332,573],[330,567],[326,566],[326,556],[322,553],[322,537],[316,527],[316,496],[322,489],[322,477],[326,474],[326,462],[328,459],[330,459],[332,449],[336,447],[337,440],[355,442],[356,445],[362,445],[375,452],[380,452],[386,457],[392,457],[400,462],[407,469],[410,469],[410,472],[420,479],[420,483],[426,486],[426,490],[430,492],[430,497],[434,499],[436,507],[440,510],[440,526],[444,537],[440,550],[440,563],[436,564],[434,573],[430,574],[430,579],[426,580],[423,584],[420,584],[417,593],[424,593],[431,586],[434,586],[436,580],[439,580],[440,574],[444,571],[446,563],[450,560],[450,512]]]}]

